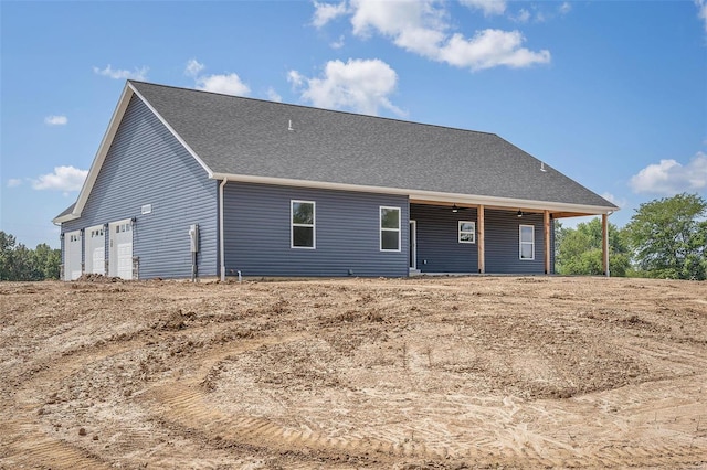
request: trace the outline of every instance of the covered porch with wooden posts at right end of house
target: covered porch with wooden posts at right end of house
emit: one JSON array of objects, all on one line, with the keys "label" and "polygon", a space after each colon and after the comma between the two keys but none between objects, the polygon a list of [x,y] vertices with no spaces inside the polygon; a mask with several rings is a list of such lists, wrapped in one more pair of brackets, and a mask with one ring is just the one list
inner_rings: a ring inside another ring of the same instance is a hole
[{"label": "covered porch with wooden posts at right end of house", "polygon": [[555,221],[601,215],[603,273],[608,220],[594,207],[508,206],[410,200],[410,274],[555,274]]}]

